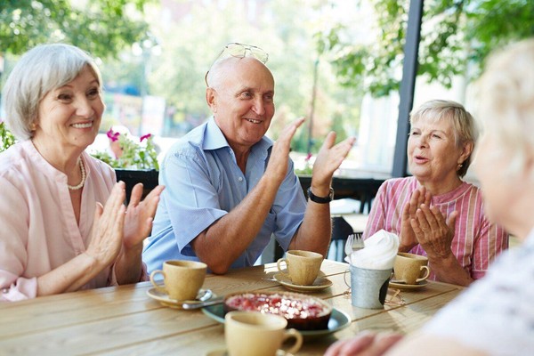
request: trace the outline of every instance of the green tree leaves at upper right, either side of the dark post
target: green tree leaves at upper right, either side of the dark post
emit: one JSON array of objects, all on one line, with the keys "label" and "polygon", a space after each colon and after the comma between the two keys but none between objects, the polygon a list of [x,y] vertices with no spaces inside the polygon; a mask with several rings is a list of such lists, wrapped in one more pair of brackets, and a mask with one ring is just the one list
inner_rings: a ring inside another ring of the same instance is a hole
[{"label": "green tree leaves at upper right, either side of the dark post", "polygon": [[[410,1],[369,1],[376,21],[365,44],[352,41],[351,28],[343,24],[320,34],[318,44],[332,57],[341,83],[362,83],[365,92],[379,97],[399,89]],[[493,49],[529,36],[534,1],[425,0],[417,74],[449,88],[454,76],[478,77]]]}]

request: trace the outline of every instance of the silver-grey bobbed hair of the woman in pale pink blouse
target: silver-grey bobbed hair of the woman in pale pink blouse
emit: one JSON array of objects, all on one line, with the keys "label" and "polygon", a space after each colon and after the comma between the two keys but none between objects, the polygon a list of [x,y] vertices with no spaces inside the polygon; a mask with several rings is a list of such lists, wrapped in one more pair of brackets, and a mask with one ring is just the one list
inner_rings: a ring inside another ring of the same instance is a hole
[{"label": "silver-grey bobbed hair of the woman in pale pink blouse", "polygon": [[39,103],[51,90],[74,80],[85,68],[99,86],[101,73],[93,58],[70,44],[40,44],[20,58],[4,85],[5,123],[20,141],[32,137]]}]

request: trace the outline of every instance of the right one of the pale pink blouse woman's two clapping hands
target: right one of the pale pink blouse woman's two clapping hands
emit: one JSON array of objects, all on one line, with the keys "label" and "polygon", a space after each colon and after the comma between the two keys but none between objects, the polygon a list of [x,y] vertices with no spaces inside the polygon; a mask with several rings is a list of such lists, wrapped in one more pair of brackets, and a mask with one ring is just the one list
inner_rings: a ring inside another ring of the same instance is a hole
[{"label": "right one of the pale pink blouse woman's two clapping hands", "polygon": [[135,184],[125,214],[124,244],[126,249],[139,247],[149,236],[158,208],[159,196],[164,189],[165,186],[158,185],[141,201],[142,183]]}]

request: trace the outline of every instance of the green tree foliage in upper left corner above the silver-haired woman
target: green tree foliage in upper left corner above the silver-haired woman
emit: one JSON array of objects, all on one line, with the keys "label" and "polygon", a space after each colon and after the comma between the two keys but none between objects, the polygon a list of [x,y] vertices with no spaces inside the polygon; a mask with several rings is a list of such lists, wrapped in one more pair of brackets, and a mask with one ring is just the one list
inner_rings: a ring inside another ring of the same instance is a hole
[{"label": "green tree foliage in upper left corner above the silver-haired woman", "polygon": [[67,42],[96,57],[116,56],[145,36],[143,7],[152,0],[3,0],[0,53],[21,54],[36,44]]}]

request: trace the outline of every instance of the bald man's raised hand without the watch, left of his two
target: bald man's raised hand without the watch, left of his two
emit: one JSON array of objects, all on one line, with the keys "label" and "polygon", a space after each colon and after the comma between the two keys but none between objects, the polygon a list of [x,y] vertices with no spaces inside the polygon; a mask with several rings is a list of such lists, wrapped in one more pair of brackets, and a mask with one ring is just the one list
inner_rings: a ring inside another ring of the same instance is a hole
[{"label": "bald man's raised hand without the watch, left of his two", "polygon": [[265,174],[272,176],[278,182],[282,182],[287,174],[287,162],[289,160],[289,150],[291,149],[291,139],[295,135],[296,129],[303,125],[304,117],[296,119],[291,124],[287,125],[279,139],[273,143],[271,150],[271,157],[269,164],[265,170]]}]

